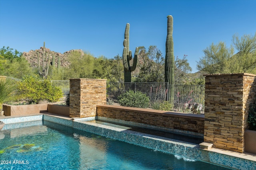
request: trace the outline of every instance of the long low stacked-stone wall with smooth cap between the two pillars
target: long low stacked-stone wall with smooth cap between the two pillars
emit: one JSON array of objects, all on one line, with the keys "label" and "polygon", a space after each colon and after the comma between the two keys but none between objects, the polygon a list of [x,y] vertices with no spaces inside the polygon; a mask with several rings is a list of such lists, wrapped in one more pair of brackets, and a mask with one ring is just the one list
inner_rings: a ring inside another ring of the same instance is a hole
[{"label": "long low stacked-stone wall with smooth cap between the two pillars", "polygon": [[204,134],[204,115],[102,105],[96,116]]}]

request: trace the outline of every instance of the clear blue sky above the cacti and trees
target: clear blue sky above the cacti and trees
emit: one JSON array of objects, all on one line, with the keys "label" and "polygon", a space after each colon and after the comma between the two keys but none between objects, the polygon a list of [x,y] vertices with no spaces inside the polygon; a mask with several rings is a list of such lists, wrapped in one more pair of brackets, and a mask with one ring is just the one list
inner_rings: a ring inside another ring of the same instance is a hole
[{"label": "clear blue sky above the cacti and trees", "polygon": [[130,50],[156,45],[165,56],[167,16],[174,18],[174,55],[196,72],[203,49],[234,34],[256,33],[256,0],[0,0],[0,48],[20,52],[88,51],[94,57],[122,56],[130,23]]}]

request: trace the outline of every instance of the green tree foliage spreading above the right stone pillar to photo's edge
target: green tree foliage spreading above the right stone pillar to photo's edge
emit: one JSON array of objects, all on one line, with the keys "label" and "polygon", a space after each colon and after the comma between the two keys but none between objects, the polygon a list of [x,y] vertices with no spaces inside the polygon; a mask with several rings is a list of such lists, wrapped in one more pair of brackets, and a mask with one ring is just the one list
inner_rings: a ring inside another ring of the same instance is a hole
[{"label": "green tree foliage spreading above the right stone pillar to photo's edge", "polygon": [[[204,49],[204,57],[197,64],[197,69],[204,73],[252,73],[256,74],[256,33],[233,36],[233,45],[227,48],[225,43],[210,45]],[[234,55],[234,48],[238,51]]]}]

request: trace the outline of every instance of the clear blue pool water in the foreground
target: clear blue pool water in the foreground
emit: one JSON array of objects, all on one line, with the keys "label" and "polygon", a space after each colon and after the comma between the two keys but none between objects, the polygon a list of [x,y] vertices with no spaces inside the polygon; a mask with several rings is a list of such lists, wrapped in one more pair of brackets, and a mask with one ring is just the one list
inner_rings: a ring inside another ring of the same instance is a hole
[{"label": "clear blue pool water in the foreground", "polygon": [[0,160],[3,170],[228,170],[48,121],[0,131]]}]

